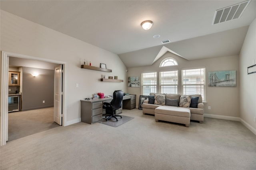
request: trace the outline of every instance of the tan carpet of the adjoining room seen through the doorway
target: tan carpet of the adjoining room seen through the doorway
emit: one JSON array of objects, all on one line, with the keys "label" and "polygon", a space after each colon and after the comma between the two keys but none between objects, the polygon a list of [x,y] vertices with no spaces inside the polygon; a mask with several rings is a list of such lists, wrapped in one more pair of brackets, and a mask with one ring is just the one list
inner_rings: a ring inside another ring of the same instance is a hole
[{"label": "tan carpet of the adjoining room seen through the doorway", "polygon": [[54,107],[8,113],[8,142],[59,127]]}]

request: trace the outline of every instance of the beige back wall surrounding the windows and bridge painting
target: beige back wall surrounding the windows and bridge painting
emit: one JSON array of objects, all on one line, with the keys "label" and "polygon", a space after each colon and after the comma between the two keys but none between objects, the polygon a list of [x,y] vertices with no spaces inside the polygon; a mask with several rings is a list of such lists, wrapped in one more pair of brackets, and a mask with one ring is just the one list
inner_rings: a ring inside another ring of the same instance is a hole
[{"label": "beige back wall surrounding the windows and bridge painting", "polygon": [[[159,68],[160,63],[165,58],[172,57],[178,62],[178,66]],[[211,59],[201,59],[188,61],[182,57],[178,57],[170,52],[167,52],[163,57],[156,61],[152,66],[128,68],[128,76],[140,76],[142,72],[157,71],[159,76],[160,70],[179,70],[179,85],[178,93],[181,94],[181,70],[183,68],[198,68],[205,67],[206,70],[206,102],[204,113],[214,115],[225,115],[239,117],[239,56],[218,57]],[[236,87],[208,87],[208,71],[236,70]],[[159,81],[159,80],[158,80]],[[159,84],[159,82],[158,82]],[[136,106],[139,103],[141,88],[128,88],[130,94],[137,95]],[[158,91],[159,92],[159,91]],[[208,110],[207,107],[211,106]]]}]

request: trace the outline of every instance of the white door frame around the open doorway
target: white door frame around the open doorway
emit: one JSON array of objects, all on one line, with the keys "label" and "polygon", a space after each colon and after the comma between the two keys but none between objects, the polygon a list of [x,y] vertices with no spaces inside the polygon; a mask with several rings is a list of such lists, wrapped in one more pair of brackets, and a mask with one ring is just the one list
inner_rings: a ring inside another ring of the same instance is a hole
[{"label": "white door frame around the open doorway", "polygon": [[67,125],[67,62],[57,61],[52,59],[45,59],[41,57],[34,57],[29,55],[22,55],[18,53],[11,53],[2,51],[1,59],[1,98],[0,98],[0,112],[1,112],[1,143],[0,146],[6,145],[6,139],[8,136],[8,72],[9,72],[9,57],[17,57],[22,59],[30,59],[35,61],[44,61],[49,63],[56,63],[63,65],[62,76],[62,126]]}]

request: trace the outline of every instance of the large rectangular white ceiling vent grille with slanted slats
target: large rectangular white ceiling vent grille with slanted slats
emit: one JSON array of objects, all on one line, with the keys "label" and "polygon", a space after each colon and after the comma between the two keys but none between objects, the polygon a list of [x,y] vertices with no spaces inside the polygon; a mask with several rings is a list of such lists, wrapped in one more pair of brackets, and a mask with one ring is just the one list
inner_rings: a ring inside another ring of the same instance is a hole
[{"label": "large rectangular white ceiling vent grille with slanted slats", "polygon": [[248,0],[239,4],[222,8],[220,10],[216,10],[212,25],[240,18],[250,2],[251,0]]}]

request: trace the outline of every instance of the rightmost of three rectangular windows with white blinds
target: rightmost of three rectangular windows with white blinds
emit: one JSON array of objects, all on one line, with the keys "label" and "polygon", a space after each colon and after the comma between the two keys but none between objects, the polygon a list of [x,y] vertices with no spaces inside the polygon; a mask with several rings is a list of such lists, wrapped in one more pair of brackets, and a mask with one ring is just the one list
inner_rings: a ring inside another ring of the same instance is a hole
[{"label": "rightmost of three rectangular windows with white blinds", "polygon": [[205,102],[205,68],[182,70],[182,94],[201,94]]}]

